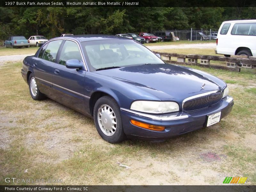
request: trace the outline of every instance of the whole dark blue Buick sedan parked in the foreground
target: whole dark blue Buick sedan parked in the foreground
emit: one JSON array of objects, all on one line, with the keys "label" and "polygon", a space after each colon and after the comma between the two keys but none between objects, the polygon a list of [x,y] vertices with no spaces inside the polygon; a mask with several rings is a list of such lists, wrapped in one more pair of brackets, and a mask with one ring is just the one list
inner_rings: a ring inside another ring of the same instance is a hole
[{"label": "whole dark blue Buick sedan parked in the foreground", "polygon": [[219,78],[166,64],[120,36],[58,37],[23,60],[31,97],[45,96],[94,118],[100,136],[165,140],[218,123],[234,102]]}]

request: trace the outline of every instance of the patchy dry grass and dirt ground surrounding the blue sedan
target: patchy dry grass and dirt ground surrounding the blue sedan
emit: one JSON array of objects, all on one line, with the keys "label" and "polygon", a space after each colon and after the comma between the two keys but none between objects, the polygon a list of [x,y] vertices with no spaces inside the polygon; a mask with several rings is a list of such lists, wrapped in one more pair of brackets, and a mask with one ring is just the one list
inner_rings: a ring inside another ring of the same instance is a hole
[{"label": "patchy dry grass and dirt ground surrounding the blue sedan", "polygon": [[255,185],[256,75],[194,68],[228,83],[235,101],[229,116],[164,143],[109,144],[91,118],[51,99],[32,100],[21,62],[6,63],[0,67],[0,184],[25,184],[4,182],[16,177],[62,179],[39,183],[49,185],[221,185],[238,176]]}]

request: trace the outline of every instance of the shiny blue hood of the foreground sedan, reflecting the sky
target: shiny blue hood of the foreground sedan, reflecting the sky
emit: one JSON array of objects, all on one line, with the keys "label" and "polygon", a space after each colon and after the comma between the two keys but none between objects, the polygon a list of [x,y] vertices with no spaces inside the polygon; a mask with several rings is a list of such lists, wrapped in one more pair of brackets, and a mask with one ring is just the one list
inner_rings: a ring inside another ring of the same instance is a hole
[{"label": "shiny blue hood of the foreground sedan, reflecting the sky", "polygon": [[[220,90],[226,85],[217,77],[209,74],[205,76],[193,69],[171,64],[129,66],[100,70],[96,73],[132,84],[154,94],[160,100],[175,100],[177,102],[204,92]],[[213,79],[218,80],[219,84]],[[205,85],[203,86],[203,84]]]}]

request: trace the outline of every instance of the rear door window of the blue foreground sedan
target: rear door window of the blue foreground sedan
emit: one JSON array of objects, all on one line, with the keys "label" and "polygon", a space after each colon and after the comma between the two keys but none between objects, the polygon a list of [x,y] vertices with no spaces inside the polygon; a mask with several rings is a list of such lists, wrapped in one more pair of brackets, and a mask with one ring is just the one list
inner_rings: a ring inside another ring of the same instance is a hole
[{"label": "rear door window of the blue foreground sedan", "polygon": [[43,59],[47,61],[56,61],[57,52],[60,48],[62,40],[55,40],[48,43],[46,50],[44,52]]}]

